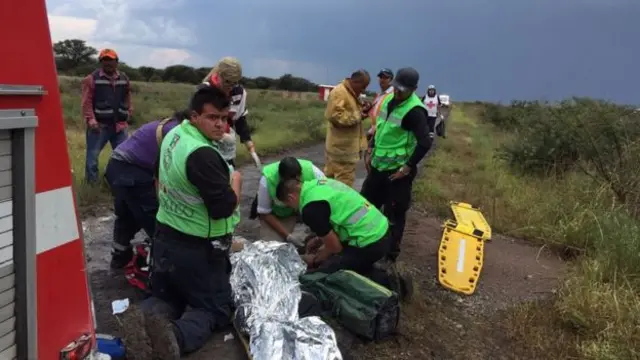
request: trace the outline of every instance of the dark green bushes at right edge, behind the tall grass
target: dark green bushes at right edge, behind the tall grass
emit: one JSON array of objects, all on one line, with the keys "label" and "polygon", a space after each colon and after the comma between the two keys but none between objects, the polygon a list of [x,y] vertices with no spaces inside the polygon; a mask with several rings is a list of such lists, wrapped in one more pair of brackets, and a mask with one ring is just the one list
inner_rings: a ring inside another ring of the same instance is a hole
[{"label": "dark green bushes at right edge, behind the tall grass", "polygon": [[633,107],[574,98],[557,105],[495,108],[487,107],[489,113],[499,114],[490,118],[492,123],[519,124],[498,152],[512,169],[535,175],[577,169],[609,187],[621,203],[637,207],[640,114]]}]

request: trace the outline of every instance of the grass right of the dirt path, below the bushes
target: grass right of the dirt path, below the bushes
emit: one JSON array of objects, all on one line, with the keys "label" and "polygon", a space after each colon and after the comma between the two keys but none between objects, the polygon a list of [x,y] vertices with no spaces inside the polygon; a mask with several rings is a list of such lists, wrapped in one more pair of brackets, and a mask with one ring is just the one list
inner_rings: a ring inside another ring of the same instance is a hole
[{"label": "grass right of the dirt path, below the bushes", "polygon": [[563,358],[640,359],[640,221],[607,188],[578,172],[517,175],[496,150],[516,135],[454,109],[415,186],[421,206],[449,215],[450,200],[480,206],[494,231],[548,244],[573,259],[552,302],[512,312],[515,341]]}]

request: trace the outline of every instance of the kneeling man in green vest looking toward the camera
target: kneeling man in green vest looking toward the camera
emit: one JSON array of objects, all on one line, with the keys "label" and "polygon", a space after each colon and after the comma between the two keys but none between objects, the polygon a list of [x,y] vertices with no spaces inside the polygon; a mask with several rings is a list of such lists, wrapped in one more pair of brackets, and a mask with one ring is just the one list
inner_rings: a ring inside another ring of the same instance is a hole
[{"label": "kneeling man in green vest looking toward the camera", "polygon": [[211,144],[224,134],[229,99],[206,87],[190,109],[160,150],[152,296],[122,321],[125,343],[140,359],[179,359],[231,321],[229,249],[242,180]]}]

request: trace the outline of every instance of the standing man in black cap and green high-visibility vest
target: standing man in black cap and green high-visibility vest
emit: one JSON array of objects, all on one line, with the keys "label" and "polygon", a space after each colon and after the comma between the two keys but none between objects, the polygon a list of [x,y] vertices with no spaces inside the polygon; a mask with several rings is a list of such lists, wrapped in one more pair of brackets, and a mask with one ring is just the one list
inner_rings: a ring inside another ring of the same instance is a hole
[{"label": "standing man in black cap and green high-visibility vest", "polygon": [[376,132],[365,158],[368,175],[362,195],[376,207],[384,206],[391,222],[389,260],[400,254],[406,212],[411,202],[418,163],[431,148],[434,124],[415,94],[420,76],[414,68],[402,68],[393,81],[393,94],[380,104]]}]

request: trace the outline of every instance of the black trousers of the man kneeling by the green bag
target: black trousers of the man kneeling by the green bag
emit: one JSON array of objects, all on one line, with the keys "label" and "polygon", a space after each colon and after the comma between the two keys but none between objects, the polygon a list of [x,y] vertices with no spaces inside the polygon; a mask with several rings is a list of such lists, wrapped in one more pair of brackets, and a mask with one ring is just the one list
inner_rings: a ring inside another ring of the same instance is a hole
[{"label": "black trousers of the man kneeling by the green bag", "polygon": [[308,272],[331,274],[339,270],[352,270],[389,288],[392,285],[389,275],[386,271],[373,266],[373,264],[389,254],[391,243],[391,233],[387,232],[382,239],[366,247],[359,248],[346,245],[340,254],[331,256],[317,269],[312,269]]}]

